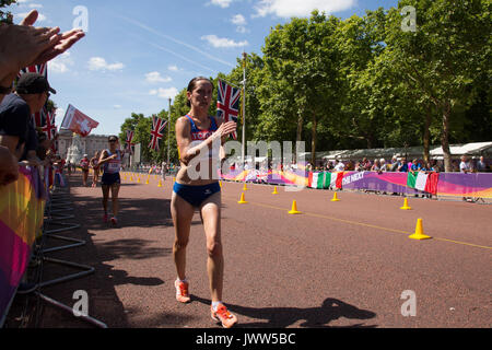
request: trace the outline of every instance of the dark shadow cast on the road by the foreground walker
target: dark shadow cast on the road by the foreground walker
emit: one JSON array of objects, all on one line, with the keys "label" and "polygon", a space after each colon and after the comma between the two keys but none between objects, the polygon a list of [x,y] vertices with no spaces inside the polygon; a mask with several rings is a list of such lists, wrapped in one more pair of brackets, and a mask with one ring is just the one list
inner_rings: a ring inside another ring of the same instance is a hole
[{"label": "dark shadow cast on the road by the foreground walker", "polygon": [[[197,301],[207,305],[211,304],[208,299],[191,295],[191,302]],[[350,319],[371,319],[376,316],[375,313],[347,304],[333,298],[327,298],[319,307],[247,307],[226,303],[227,308],[238,315],[265,319],[265,322],[242,323],[241,317],[238,327],[242,328],[285,328],[298,320],[306,328],[375,328],[377,325],[364,325],[356,323],[347,327],[329,326],[329,323],[344,317]]]}]

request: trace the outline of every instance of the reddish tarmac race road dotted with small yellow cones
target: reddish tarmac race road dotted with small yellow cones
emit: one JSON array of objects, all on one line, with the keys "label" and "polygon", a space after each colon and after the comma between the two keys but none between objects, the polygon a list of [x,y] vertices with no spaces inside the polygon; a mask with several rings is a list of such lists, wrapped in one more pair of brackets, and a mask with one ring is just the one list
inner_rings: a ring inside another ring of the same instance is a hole
[{"label": "reddish tarmac race road dotted with small yellow cones", "polygon": [[[90,315],[109,327],[219,327],[210,318],[198,213],[187,248],[192,301],[175,300],[172,178],[163,187],[153,175],[148,185],[145,177],[124,179],[117,228],[103,222],[101,187],[82,187],[79,173],[70,185],[72,221],[82,225],[70,236],[86,244],[49,256],[95,273],[43,293],[73,305],[73,292],[86,291]],[[238,328],[492,326],[491,206],[409,197],[407,211],[396,196],[341,191],[332,202],[329,190],[272,189],[248,184],[248,203],[239,205],[243,184],[222,187],[223,301]],[[288,214],[293,200],[301,214]],[[408,238],[418,219],[431,240]],[[47,264],[44,278],[63,271]],[[405,291],[414,296],[415,316],[402,315],[411,310]],[[92,327],[50,306],[40,326]]]}]

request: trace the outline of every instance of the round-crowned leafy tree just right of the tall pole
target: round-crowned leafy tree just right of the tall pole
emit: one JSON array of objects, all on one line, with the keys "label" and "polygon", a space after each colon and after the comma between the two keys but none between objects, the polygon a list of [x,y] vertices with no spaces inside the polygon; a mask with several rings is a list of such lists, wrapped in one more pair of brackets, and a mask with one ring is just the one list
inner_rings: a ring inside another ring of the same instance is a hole
[{"label": "round-crowned leafy tree just right of the tall pole", "polygon": [[[332,102],[337,101],[338,73],[332,34],[337,24],[336,18],[327,19],[313,11],[309,20],[292,19],[285,25],[278,25],[262,49],[267,77],[280,88],[277,94],[267,94],[270,100],[267,104],[279,108],[288,124],[296,120],[296,141],[302,139],[305,120],[311,122],[313,162],[318,124],[336,109]],[[282,110],[286,101],[294,105]]]}]

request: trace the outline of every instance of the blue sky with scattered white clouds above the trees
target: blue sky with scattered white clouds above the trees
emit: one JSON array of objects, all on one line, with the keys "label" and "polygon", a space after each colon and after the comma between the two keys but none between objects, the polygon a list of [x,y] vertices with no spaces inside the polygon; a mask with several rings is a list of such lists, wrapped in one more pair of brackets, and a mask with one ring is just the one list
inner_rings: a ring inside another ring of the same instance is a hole
[{"label": "blue sky with scattered white clouds above the trees", "polygon": [[59,126],[69,104],[117,135],[131,113],[168,109],[198,75],[229,73],[243,51],[261,56],[270,28],[314,9],[341,19],[397,0],[17,0],[14,22],[33,9],[35,26],[82,27],[85,37],[48,63]]}]

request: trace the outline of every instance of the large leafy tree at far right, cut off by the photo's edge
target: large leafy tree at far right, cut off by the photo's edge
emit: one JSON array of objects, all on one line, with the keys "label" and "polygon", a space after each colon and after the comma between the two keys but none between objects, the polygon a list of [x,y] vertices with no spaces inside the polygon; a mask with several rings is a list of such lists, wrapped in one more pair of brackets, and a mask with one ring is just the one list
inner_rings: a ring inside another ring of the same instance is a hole
[{"label": "large leafy tree at far right, cut off by the photo's edge", "polygon": [[[405,5],[417,10],[417,32],[401,30]],[[473,81],[489,67],[490,8],[488,0],[401,0],[388,12],[388,57],[408,86],[429,98],[441,115],[446,172],[452,171],[449,133],[456,108],[469,105],[477,93]]]}]

